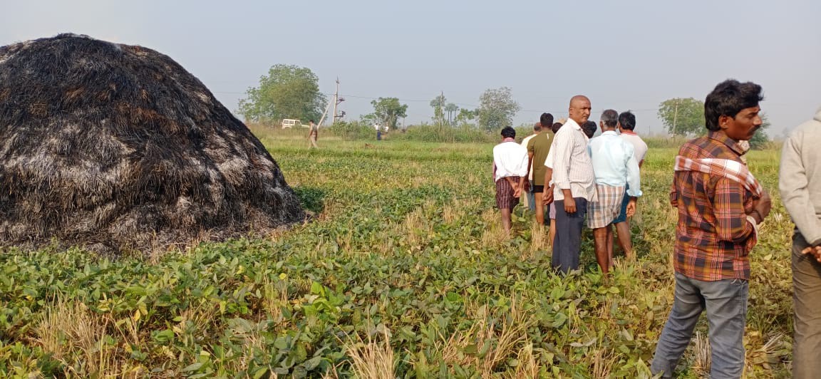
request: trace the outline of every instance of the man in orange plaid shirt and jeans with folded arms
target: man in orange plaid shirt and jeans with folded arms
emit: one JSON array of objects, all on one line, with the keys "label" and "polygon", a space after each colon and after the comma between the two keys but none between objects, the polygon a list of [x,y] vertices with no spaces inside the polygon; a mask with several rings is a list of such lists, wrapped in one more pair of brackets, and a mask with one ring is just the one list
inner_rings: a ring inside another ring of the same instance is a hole
[{"label": "man in orange plaid shirt and jeans with folded arms", "polygon": [[673,265],[676,287],[650,370],[672,377],[707,310],[710,377],[740,378],[744,368],[750,260],[769,195],[741,162],[738,141],[761,126],[761,86],[726,80],[707,95],[708,134],[681,146],[670,192],[678,208]]}]

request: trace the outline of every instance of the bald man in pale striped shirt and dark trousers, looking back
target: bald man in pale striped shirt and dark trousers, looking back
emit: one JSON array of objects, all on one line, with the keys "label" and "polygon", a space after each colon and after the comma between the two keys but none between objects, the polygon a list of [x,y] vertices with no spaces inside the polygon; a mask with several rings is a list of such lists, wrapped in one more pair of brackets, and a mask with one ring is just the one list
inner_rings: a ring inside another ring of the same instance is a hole
[{"label": "bald man in pale striped shirt and dark trousers, looking back", "polygon": [[[596,201],[593,164],[587,153],[588,138],[580,124],[590,116],[586,96],[571,98],[570,117],[553,137],[553,196],[556,201],[556,239],[553,240],[553,267],[567,273],[579,268],[581,228],[585,224],[587,202]],[[545,174],[547,175],[547,174]]]}]

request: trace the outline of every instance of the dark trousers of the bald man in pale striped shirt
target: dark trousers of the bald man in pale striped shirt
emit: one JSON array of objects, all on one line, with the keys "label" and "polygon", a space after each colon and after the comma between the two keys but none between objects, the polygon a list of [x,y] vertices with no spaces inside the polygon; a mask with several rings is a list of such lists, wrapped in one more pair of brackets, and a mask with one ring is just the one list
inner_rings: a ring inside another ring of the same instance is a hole
[{"label": "dark trousers of the bald man in pale striped shirt", "polygon": [[553,267],[567,273],[579,269],[581,228],[585,226],[587,199],[573,198],[573,201],[576,202],[575,213],[565,212],[565,201],[570,200],[556,201],[556,239],[553,240]]}]

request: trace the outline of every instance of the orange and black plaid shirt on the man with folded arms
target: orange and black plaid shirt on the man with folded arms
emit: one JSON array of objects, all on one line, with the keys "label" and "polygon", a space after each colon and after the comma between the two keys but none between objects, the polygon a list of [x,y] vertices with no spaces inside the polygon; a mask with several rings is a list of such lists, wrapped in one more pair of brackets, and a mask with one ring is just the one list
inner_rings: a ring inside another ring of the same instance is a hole
[{"label": "orange and black plaid shirt on the man with folded arms", "polygon": [[[681,146],[685,158],[720,158],[741,162],[744,153],[734,139],[710,132]],[[673,175],[670,202],[678,208],[675,261],[681,275],[699,281],[750,279],[747,254],[756,243],[746,214],[753,194],[744,185],[723,176],[698,171]]]}]

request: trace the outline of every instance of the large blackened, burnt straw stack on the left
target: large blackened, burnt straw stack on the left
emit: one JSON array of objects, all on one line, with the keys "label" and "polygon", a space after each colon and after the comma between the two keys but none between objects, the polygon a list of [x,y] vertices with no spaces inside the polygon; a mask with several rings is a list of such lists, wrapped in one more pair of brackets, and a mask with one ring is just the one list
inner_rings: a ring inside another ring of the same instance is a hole
[{"label": "large blackened, burnt straw stack on the left", "polygon": [[259,139],[171,58],[75,34],[0,47],[0,246],[144,250],[304,218]]}]

